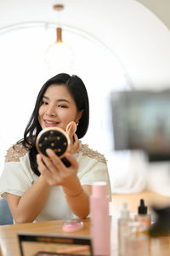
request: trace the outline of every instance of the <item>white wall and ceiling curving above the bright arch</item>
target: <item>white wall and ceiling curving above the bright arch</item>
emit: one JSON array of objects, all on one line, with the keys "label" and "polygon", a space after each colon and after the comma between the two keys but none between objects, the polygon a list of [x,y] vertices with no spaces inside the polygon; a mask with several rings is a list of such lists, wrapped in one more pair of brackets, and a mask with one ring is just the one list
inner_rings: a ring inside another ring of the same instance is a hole
[{"label": "white wall and ceiling curving above the bright arch", "polygon": [[[133,88],[170,84],[169,0],[2,0],[0,28],[27,22],[57,23],[95,38],[115,55]],[[113,71],[114,73],[114,71]]]}]

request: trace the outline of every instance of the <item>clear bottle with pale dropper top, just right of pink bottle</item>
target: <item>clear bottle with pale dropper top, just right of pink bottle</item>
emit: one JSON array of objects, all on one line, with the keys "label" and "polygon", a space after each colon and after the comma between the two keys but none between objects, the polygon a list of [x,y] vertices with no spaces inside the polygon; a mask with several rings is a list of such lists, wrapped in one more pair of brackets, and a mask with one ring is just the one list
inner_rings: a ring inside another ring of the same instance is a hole
[{"label": "clear bottle with pale dropper top, just right of pink bottle", "polygon": [[124,202],[121,210],[121,217],[118,218],[118,252],[120,256],[125,255],[125,237],[127,233],[127,224],[131,222],[132,219],[129,215],[129,210],[127,203]]}]

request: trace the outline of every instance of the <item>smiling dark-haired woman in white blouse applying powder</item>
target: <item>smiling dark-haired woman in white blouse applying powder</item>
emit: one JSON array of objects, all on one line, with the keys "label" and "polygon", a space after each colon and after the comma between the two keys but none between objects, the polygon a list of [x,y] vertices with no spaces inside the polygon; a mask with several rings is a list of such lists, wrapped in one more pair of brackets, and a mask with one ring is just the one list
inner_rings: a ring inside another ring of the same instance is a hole
[{"label": "smiling dark-haired woman in white blouse applying powder", "polygon": [[[0,195],[7,199],[15,223],[86,218],[95,181],[107,182],[111,198],[105,157],[79,141],[88,131],[88,120],[82,79],[60,73],[42,86],[24,138],[8,149],[0,178]],[[66,129],[71,121],[77,124],[76,132],[73,125]],[[71,150],[65,154],[69,167],[50,148],[46,151],[50,160],[37,153],[39,132],[54,126],[71,139]]]}]

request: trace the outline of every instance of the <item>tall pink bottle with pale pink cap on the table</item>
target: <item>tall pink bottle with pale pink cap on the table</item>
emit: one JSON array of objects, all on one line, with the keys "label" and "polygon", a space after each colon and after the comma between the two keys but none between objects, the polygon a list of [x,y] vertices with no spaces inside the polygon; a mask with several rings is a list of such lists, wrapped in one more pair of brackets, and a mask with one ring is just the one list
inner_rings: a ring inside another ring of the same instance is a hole
[{"label": "tall pink bottle with pale pink cap on the table", "polygon": [[90,232],[94,255],[111,255],[111,222],[109,216],[109,197],[105,182],[96,182],[90,196]]}]

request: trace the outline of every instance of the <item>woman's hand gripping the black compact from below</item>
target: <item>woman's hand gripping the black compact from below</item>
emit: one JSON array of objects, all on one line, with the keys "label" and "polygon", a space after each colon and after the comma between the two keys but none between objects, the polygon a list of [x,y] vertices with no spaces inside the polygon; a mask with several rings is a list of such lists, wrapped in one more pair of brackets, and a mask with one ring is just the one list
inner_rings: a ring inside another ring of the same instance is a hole
[{"label": "woman's hand gripping the black compact from below", "polygon": [[43,157],[41,154],[37,154],[38,171],[50,186],[61,185],[69,187],[69,183],[77,177],[77,160],[73,155],[66,153],[65,158],[71,163],[71,166],[68,168],[52,149],[48,148],[46,152],[50,159]]}]

